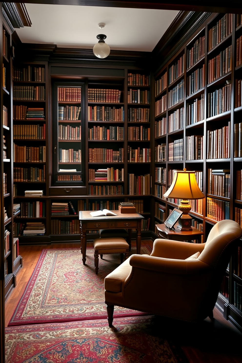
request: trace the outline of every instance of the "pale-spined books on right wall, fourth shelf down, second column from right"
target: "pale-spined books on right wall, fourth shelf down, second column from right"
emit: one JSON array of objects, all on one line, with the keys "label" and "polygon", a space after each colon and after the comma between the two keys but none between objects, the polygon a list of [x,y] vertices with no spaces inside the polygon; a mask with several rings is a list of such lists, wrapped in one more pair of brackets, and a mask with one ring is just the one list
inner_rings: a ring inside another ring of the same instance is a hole
[{"label": "pale-spined books on right wall, fourth shelf down, second column from right", "polygon": [[230,158],[230,127],[231,121],[222,129],[208,130],[207,159]]}]

